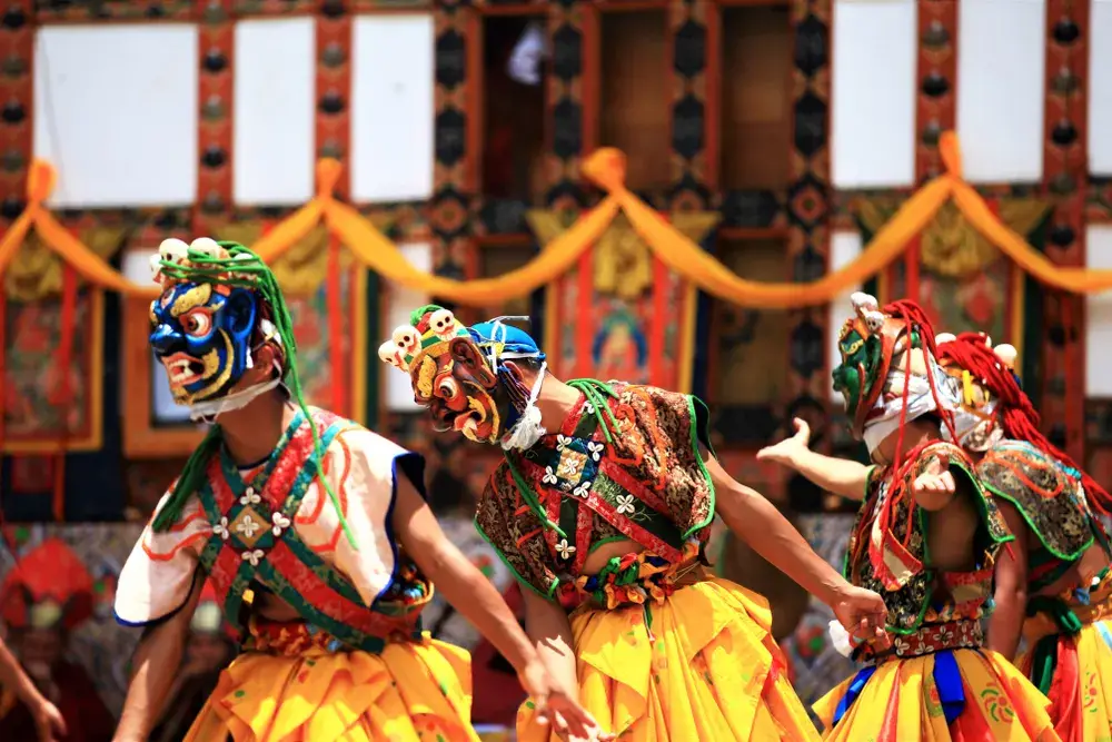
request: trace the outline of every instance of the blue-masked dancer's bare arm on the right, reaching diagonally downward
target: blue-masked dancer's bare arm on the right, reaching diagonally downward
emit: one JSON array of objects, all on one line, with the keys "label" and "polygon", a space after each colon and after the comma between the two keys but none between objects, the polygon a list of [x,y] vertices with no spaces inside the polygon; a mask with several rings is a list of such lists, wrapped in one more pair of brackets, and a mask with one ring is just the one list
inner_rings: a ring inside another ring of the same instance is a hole
[{"label": "blue-masked dancer's bare arm on the right, reaching diagonally downward", "polygon": [[[547,703],[576,734],[597,729],[578,703],[575,684],[554,676],[522,631],[514,612],[494,584],[444,535],[428,504],[406,476],[398,476],[394,527],[406,553],[444,597],[514,665],[525,690]],[[573,677],[574,679],[574,677]]]}]

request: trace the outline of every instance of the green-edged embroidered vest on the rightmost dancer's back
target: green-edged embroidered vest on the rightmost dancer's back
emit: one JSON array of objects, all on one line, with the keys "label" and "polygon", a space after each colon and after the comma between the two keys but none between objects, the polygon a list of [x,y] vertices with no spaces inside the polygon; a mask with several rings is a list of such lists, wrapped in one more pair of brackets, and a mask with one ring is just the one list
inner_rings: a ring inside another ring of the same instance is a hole
[{"label": "green-edged embroidered vest on the rightmost dancer's back", "polygon": [[1042,544],[1031,555],[1032,591],[1054,583],[1093,545],[1099,526],[1078,478],[1030,443],[1001,441],[985,452],[976,474],[985,489],[1020,511]]}]

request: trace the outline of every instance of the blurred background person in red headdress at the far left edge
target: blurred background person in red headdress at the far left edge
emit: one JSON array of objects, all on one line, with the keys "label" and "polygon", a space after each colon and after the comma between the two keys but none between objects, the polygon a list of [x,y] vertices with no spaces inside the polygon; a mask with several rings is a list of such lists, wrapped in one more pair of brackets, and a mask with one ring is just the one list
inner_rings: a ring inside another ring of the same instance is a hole
[{"label": "blurred background person in red headdress at the far left edge", "polygon": [[[23,670],[61,712],[67,742],[109,742],[116,720],[81,665],[67,659],[70,633],[92,615],[92,577],[60,540],[28,552],[0,586],[8,643]],[[0,691],[0,740],[37,739],[31,710]]]}]

